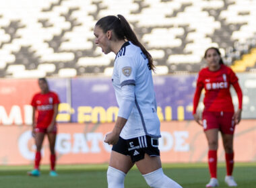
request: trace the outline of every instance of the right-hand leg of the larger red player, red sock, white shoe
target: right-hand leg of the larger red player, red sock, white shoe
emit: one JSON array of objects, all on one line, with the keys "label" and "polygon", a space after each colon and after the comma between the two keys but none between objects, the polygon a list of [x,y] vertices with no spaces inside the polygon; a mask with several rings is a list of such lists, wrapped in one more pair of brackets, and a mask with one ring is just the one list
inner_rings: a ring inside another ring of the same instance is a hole
[{"label": "right-hand leg of the larger red player, red sock, white shoe", "polygon": [[229,187],[236,187],[237,184],[232,177],[234,168],[233,134],[222,134],[222,141],[226,156],[226,177],[225,182]]}]

